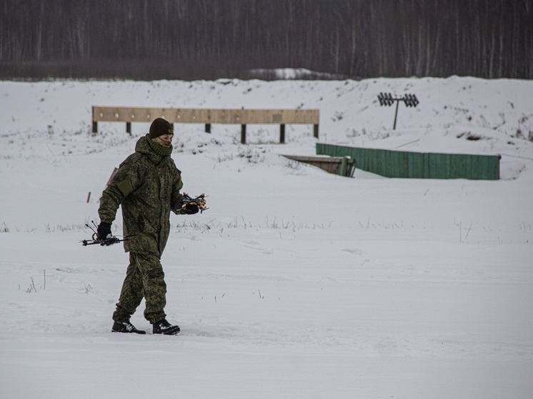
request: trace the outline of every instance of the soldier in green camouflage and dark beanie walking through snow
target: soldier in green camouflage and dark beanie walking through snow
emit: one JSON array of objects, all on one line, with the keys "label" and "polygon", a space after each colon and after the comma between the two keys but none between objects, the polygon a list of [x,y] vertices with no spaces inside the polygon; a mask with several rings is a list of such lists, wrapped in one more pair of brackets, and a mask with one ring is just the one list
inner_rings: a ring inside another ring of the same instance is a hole
[{"label": "soldier in green camouflage and dark beanie walking through snow", "polygon": [[113,332],[146,333],[129,321],[145,299],[144,317],[155,334],[175,335],[179,326],[166,320],[166,283],[161,255],[170,232],[170,212],[192,214],[198,206],[181,207],[183,186],[181,171],[170,157],[174,130],[168,121],[156,118],[149,134],[139,138],[135,152],[122,162],[100,198],[101,223],[98,236],[111,234],[111,223],[119,206],[124,222],[124,249],[129,252],[129,266],[119,303],[113,313]]}]

